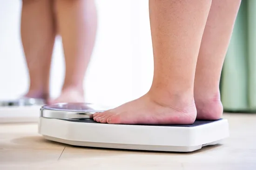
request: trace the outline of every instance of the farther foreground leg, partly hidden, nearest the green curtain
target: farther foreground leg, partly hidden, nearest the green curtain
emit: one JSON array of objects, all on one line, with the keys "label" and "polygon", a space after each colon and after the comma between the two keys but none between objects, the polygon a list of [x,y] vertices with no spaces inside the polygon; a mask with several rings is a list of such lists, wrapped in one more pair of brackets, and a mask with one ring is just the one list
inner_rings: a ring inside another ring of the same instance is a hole
[{"label": "farther foreground leg, partly hidden, nearest the green curtain", "polygon": [[216,120],[223,112],[219,83],[241,0],[212,0],[195,71],[197,118]]}]

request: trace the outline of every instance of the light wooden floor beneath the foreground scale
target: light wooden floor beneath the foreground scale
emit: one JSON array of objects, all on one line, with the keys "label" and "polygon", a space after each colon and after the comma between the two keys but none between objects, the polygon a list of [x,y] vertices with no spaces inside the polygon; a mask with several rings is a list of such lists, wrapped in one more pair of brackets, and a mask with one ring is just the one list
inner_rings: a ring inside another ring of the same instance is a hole
[{"label": "light wooden floor beneath the foreground scale", "polygon": [[230,137],[193,153],[72,147],[43,139],[37,124],[0,124],[0,170],[256,170],[256,114],[224,114]]}]

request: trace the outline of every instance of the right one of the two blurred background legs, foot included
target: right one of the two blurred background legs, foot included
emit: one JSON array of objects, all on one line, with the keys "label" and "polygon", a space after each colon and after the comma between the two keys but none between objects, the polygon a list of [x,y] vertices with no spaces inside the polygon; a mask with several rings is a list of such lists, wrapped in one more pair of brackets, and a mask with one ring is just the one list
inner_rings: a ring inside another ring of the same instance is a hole
[{"label": "right one of the two blurred background legs, foot included", "polygon": [[55,0],[65,54],[61,95],[52,102],[83,102],[83,80],[93,51],[97,16],[94,0]]}]

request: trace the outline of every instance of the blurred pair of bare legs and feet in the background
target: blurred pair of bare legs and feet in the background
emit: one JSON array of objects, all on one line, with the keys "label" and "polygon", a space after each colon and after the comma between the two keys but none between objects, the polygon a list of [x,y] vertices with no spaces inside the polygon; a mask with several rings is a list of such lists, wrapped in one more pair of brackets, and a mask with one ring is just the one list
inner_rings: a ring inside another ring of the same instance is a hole
[{"label": "blurred pair of bare legs and feet in the background", "polygon": [[[25,96],[49,103],[83,102],[83,80],[96,28],[94,0],[23,0],[21,39],[30,77]],[[58,34],[62,38],[66,71],[60,96],[50,99],[51,57]]]}]

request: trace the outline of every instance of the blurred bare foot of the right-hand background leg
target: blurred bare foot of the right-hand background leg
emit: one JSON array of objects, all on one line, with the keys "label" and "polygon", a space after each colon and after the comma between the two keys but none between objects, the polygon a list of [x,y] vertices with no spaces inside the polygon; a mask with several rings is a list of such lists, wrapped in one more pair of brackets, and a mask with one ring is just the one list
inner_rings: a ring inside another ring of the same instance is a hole
[{"label": "blurred bare foot of the right-hand background leg", "polygon": [[49,101],[49,103],[81,103],[84,102],[84,94],[82,90],[76,88],[65,88],[61,91],[61,95]]}]

